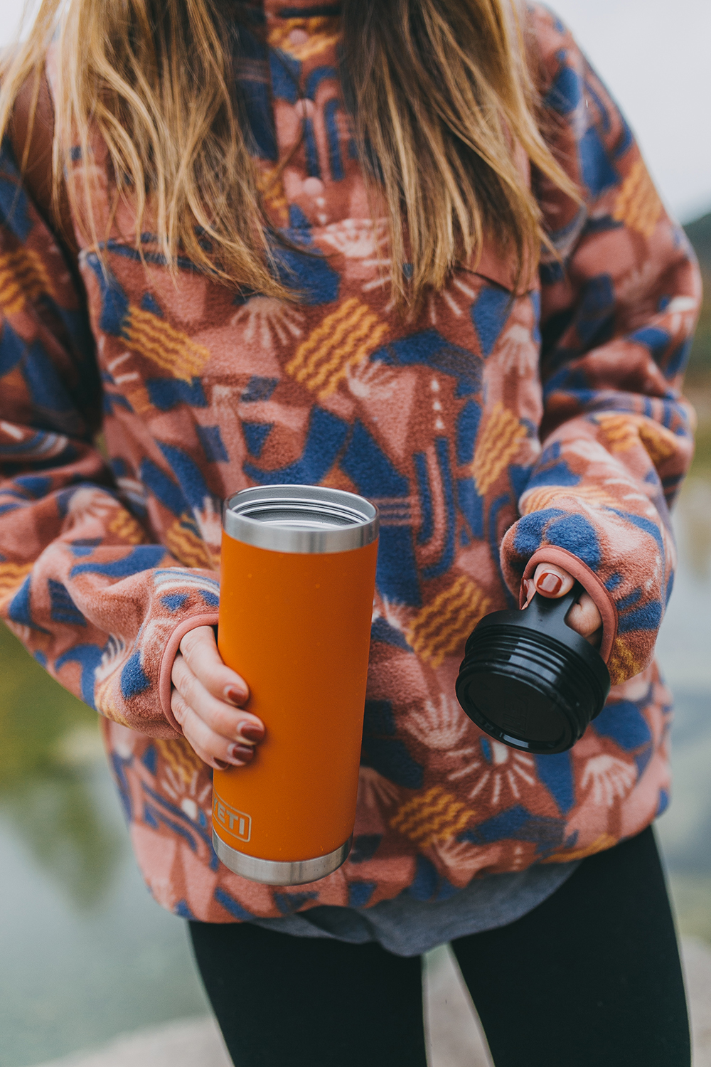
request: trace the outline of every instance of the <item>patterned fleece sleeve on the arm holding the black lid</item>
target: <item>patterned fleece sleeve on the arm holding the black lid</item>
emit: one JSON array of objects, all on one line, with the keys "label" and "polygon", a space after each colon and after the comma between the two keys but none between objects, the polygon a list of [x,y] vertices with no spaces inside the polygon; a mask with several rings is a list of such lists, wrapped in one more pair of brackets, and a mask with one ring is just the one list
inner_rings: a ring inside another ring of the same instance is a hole
[{"label": "patterned fleece sleeve on the arm holding the black lid", "polygon": [[649,663],[672,592],[668,507],[693,453],[680,386],[700,281],[614,101],[558,19],[530,14],[543,128],[582,204],[533,175],[555,253],[540,266],[543,447],[502,563],[516,593],[543,561],[580,579],[620,683]]}]

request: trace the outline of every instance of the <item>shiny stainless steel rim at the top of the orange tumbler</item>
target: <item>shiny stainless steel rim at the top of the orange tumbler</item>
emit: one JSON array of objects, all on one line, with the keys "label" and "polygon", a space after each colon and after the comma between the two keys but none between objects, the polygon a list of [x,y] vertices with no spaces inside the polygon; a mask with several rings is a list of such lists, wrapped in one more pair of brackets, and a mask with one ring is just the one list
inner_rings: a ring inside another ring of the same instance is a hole
[{"label": "shiny stainless steel rim at the top of the orange tumbler", "polygon": [[272,552],[332,553],[377,539],[377,508],[362,496],[323,485],[258,485],[227,497],[228,537]]}]

